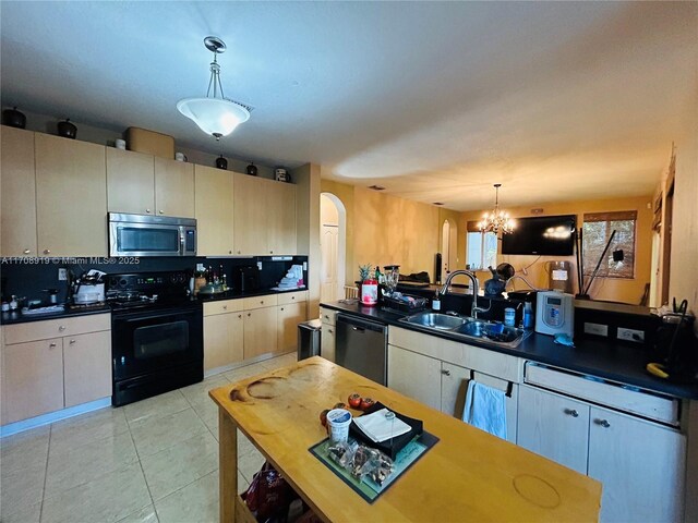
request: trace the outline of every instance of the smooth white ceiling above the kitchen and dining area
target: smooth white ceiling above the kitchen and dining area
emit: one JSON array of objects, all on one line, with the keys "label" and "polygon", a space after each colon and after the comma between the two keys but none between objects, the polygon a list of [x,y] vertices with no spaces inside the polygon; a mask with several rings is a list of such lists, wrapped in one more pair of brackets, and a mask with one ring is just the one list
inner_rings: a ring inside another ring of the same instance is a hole
[{"label": "smooth white ceiling above the kitchen and dining area", "polygon": [[[455,210],[651,194],[698,118],[697,2],[0,3],[3,107]],[[254,108],[217,144],[176,109]]]}]

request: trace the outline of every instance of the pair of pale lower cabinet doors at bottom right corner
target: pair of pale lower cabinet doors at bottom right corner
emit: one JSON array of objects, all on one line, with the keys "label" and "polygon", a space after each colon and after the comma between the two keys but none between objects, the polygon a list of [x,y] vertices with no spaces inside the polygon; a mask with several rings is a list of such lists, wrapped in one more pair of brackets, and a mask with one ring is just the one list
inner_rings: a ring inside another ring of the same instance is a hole
[{"label": "pair of pale lower cabinet doors at bottom right corner", "polygon": [[599,479],[603,523],[683,521],[678,430],[524,385],[518,445]]}]

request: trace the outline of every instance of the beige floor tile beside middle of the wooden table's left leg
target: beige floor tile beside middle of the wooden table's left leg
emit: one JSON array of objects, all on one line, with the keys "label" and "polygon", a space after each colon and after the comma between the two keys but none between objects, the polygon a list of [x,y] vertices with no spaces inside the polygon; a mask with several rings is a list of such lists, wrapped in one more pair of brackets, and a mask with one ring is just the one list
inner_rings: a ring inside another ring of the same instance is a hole
[{"label": "beige floor tile beside middle of the wooden table's left leg", "polygon": [[155,501],[218,469],[218,442],[202,433],[157,454],[141,460],[145,481]]}]

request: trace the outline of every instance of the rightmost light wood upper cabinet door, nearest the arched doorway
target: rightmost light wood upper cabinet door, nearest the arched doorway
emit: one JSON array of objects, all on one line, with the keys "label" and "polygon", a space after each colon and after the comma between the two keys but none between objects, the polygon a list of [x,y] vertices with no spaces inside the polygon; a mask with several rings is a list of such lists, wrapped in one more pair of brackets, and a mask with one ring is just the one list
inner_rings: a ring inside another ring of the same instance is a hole
[{"label": "rightmost light wood upper cabinet door, nearest the arched doorway", "polygon": [[267,198],[268,254],[296,254],[296,185],[274,182]]}]

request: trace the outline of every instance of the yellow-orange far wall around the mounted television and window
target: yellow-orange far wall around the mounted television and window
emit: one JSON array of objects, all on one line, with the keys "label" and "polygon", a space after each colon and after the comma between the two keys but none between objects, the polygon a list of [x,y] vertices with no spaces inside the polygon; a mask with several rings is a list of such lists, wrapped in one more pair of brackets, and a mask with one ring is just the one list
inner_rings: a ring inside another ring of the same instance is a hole
[{"label": "yellow-orange far wall around the mounted television and window", "polygon": [[[652,209],[648,208],[648,204],[652,202],[652,196],[642,196],[635,198],[615,198],[615,199],[598,199],[598,200],[579,200],[564,203],[540,204],[538,207],[544,209],[543,215],[577,215],[577,223],[582,222],[585,212],[599,212],[605,210],[637,210],[636,223],[636,258],[635,258],[635,278],[600,278],[594,280],[590,295],[594,300],[605,300],[613,302],[624,302],[639,304],[640,297],[645,292],[646,283],[650,281],[651,251],[652,251]],[[651,207],[651,206],[650,206]],[[489,210],[489,209],[488,209]],[[530,207],[505,207],[513,217],[524,218],[534,216],[530,214]],[[480,220],[484,210],[464,212],[461,216],[460,228],[465,231],[468,220]],[[514,232],[516,234],[516,232]],[[546,262],[566,259],[573,266],[573,292],[577,291],[577,260],[575,256],[514,256],[498,255],[497,263],[509,263],[516,269],[516,273],[524,276],[530,283],[537,288],[549,288]],[[526,271],[524,270],[526,269]],[[479,272],[478,277],[481,281],[491,278],[489,271]],[[527,289],[526,283],[515,280],[516,289]]]}]

